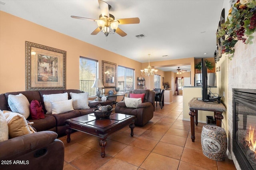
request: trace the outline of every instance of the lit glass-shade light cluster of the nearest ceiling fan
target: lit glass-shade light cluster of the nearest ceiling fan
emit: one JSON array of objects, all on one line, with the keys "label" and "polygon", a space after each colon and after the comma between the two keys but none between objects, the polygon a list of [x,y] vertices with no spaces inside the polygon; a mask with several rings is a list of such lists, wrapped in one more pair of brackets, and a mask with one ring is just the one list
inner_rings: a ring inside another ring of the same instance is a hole
[{"label": "lit glass-shade light cluster of the nearest ceiling fan", "polygon": [[100,31],[107,37],[108,34],[114,34],[118,28],[118,21],[114,21],[115,17],[109,14],[109,17],[100,15],[100,20],[97,20],[97,24]]}]

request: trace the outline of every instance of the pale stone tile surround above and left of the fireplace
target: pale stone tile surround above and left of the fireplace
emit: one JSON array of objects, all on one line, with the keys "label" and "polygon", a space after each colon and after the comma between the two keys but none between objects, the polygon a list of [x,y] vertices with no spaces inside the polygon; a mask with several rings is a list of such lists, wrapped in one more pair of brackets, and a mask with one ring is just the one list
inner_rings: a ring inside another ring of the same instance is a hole
[{"label": "pale stone tile surround above and left of the fireplace", "polygon": [[[254,33],[256,36],[256,33]],[[228,61],[228,137],[229,152],[236,168],[242,169],[233,152],[233,89],[256,89],[256,38],[252,45],[238,41],[235,45],[234,58]]]}]

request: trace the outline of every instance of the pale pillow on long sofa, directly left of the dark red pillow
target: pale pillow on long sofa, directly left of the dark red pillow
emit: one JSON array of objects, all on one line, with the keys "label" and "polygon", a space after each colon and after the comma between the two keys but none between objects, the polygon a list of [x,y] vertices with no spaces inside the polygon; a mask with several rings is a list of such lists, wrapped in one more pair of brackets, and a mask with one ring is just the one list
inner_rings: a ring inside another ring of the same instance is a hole
[{"label": "pale pillow on long sofa, directly left of the dark red pillow", "polygon": [[30,114],[30,104],[26,96],[24,96],[22,93],[18,95],[9,95],[8,104],[12,112],[20,113],[26,119],[28,119]]}]

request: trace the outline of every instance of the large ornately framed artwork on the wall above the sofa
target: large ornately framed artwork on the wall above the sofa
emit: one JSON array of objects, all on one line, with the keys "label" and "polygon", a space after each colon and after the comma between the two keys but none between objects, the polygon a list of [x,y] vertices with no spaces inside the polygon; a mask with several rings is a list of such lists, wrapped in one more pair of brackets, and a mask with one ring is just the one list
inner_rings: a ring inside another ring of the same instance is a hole
[{"label": "large ornately framed artwork on the wall above the sofa", "polygon": [[66,51],[26,44],[26,90],[66,89]]}]

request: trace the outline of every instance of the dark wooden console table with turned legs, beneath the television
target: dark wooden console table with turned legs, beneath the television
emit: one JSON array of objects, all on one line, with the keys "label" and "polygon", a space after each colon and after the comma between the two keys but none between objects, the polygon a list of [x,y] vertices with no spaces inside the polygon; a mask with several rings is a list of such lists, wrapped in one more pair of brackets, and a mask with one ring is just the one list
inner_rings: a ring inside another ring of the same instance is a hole
[{"label": "dark wooden console table with turned legs, beneath the television", "polygon": [[196,126],[198,125],[198,110],[201,111],[213,111],[214,118],[216,119],[216,125],[221,127],[222,123],[222,112],[226,111],[226,107],[222,103],[213,103],[213,102],[204,102],[197,100],[197,97],[194,97],[188,102],[189,115],[190,115],[190,126],[191,126],[191,139],[192,142],[195,141],[195,117],[196,117]]}]

